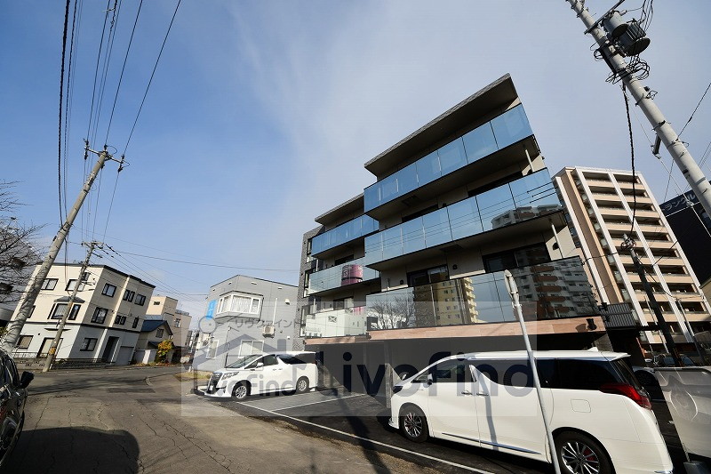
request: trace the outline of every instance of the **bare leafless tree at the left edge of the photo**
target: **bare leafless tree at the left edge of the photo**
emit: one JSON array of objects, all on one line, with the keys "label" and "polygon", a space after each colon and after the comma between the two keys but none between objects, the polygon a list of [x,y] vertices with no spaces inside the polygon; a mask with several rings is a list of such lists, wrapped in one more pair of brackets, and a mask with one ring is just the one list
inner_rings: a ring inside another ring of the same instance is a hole
[{"label": "bare leafless tree at the left edge of the photo", "polygon": [[16,181],[0,181],[0,312],[12,311],[20,301],[39,255],[33,247],[44,226],[18,221],[22,204],[13,188]]}]

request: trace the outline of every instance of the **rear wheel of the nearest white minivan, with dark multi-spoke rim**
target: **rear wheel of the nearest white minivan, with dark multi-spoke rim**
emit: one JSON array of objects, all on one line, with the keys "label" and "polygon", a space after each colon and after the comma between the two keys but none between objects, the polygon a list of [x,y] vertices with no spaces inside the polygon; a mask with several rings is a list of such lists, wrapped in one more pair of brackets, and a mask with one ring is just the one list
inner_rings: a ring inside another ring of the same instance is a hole
[{"label": "rear wheel of the nearest white minivan, with dark multi-spoke rim", "polygon": [[555,454],[561,472],[567,474],[611,474],[612,462],[595,439],[575,431],[555,438]]}]

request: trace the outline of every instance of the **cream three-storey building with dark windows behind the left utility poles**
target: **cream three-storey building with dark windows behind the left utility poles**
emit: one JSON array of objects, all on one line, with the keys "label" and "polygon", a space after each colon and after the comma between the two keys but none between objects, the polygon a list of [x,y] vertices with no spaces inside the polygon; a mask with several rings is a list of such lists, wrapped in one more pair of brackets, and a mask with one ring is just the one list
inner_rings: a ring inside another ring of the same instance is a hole
[{"label": "cream three-storey building with dark windows behind the left utility poles", "polygon": [[107,265],[90,265],[83,275],[80,270],[79,264],[52,265],[20,333],[16,358],[47,355],[69,295],[79,285],[56,358],[129,364],[155,286]]}]

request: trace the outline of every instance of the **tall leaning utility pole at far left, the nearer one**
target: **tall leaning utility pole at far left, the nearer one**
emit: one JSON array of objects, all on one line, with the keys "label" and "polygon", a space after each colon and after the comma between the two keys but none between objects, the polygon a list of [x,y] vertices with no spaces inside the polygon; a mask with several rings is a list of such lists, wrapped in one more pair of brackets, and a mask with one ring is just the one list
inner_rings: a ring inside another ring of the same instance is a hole
[{"label": "tall leaning utility pole at far left, the nearer one", "polygon": [[121,171],[123,168],[124,158],[122,157],[121,161],[114,159],[114,157],[108,154],[106,145],[104,146],[104,149],[102,151],[94,151],[92,149],[89,149],[89,141],[84,141],[84,144],[84,158],[88,157],[88,154],[91,152],[95,155],[98,155],[99,159],[96,161],[96,164],[92,168],[92,173],[89,174],[89,178],[87,178],[86,182],[84,182],[84,187],[79,192],[79,196],[76,197],[76,202],[72,206],[71,211],[69,211],[69,213],[67,214],[67,221],[62,224],[60,230],[57,232],[57,235],[52,239],[52,245],[50,245],[50,250],[47,253],[47,256],[44,258],[44,262],[37,270],[36,276],[30,280],[28,290],[26,291],[24,297],[22,298],[22,301],[20,302],[20,311],[18,311],[17,317],[15,317],[10,322],[10,324],[7,325],[7,332],[4,334],[2,345],[0,347],[2,347],[2,349],[4,349],[5,352],[7,352],[8,354],[12,353],[12,349],[15,348],[15,344],[20,338],[22,326],[25,325],[25,322],[28,320],[32,308],[35,306],[37,295],[39,294],[40,290],[42,290],[44,278],[47,277],[47,274],[50,272],[50,269],[54,264],[54,260],[60,253],[61,246],[64,244],[64,241],[67,238],[69,229],[71,229],[72,224],[76,219],[76,215],[82,208],[82,205],[84,204],[84,199],[89,194],[89,191],[92,189],[92,184],[94,180],[96,180],[96,177],[101,171],[101,168],[104,167],[106,160],[113,160],[120,163],[121,165],[119,165],[118,168],[119,171]]}]

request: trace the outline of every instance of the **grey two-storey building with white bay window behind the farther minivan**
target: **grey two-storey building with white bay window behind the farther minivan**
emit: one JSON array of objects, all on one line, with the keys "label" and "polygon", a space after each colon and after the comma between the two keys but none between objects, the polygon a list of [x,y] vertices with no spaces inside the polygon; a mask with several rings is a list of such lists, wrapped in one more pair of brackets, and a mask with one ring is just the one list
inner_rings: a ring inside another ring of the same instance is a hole
[{"label": "grey two-storey building with white bay window behind the farther minivan", "polygon": [[[242,356],[292,349],[296,286],[236,275],[210,287],[193,367],[214,371]],[[205,325],[205,319],[214,324]]]}]

